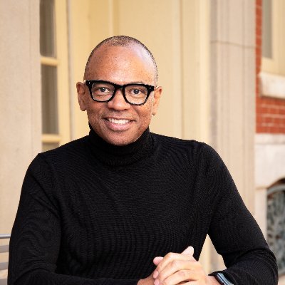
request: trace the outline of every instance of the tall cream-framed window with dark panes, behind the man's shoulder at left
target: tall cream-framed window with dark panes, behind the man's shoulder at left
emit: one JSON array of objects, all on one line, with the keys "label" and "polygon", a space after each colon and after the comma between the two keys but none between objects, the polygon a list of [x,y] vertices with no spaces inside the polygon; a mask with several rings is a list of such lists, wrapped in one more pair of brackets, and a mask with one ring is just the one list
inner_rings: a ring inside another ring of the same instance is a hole
[{"label": "tall cream-framed window with dark panes, behind the man's shoulder at left", "polygon": [[42,149],[69,141],[66,2],[40,1]]}]

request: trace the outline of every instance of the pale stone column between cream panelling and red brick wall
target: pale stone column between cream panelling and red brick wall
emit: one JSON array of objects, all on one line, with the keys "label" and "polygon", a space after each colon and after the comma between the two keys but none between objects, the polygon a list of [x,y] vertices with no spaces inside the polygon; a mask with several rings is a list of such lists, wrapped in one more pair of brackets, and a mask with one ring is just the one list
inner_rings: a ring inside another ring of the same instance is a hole
[{"label": "pale stone column between cream panelling and red brick wall", "polygon": [[[254,212],[255,1],[211,1],[211,145]],[[213,269],[219,267],[216,257]]]}]

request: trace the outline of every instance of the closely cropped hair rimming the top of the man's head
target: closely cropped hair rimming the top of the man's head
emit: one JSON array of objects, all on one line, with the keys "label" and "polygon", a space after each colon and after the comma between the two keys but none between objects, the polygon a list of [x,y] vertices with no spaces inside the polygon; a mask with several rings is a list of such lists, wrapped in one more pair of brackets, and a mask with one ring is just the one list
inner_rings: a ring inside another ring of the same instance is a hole
[{"label": "closely cropped hair rimming the top of the man's head", "polygon": [[84,72],[84,79],[88,79],[89,73],[90,73],[90,63],[93,57],[96,56],[96,52],[104,47],[108,46],[123,46],[123,47],[138,47],[142,48],[142,52],[145,53],[145,56],[147,56],[150,59],[150,64],[153,66],[154,70],[154,82],[155,85],[157,84],[158,80],[158,72],[157,72],[157,65],[155,62],[155,58],[152,56],[152,53],[149,51],[149,49],[140,41],[138,41],[136,38],[132,38],[130,36],[112,36],[110,38],[106,38],[104,41],[101,41],[98,43],[97,46],[91,51],[90,56],[88,58],[88,61],[86,63],[86,68]]}]

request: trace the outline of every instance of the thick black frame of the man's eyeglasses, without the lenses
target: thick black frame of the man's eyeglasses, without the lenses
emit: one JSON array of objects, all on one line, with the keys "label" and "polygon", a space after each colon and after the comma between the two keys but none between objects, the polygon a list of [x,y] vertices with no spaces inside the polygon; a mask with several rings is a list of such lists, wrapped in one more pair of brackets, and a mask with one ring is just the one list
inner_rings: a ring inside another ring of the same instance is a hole
[{"label": "thick black frame of the man's eyeglasses, without the lenses", "polygon": [[[119,85],[119,84],[115,84],[113,82],[110,82],[110,81],[100,81],[100,80],[85,80],[84,83],[86,84],[86,86],[88,87],[89,89],[89,93],[90,93],[90,96],[92,98],[92,100],[94,100],[95,102],[101,102],[101,103],[104,103],[104,102],[109,102],[110,100],[113,100],[113,98],[115,97],[115,93],[117,92],[118,89],[122,89],[122,93],[123,93],[123,97],[125,99],[125,102],[127,102],[128,104],[130,105],[136,105],[136,106],[140,106],[140,105],[143,105],[145,104],[145,102],[147,101],[147,99],[150,97],[150,93],[152,93],[152,91],[155,90],[155,86],[151,86],[151,85],[147,85],[147,84],[143,84],[143,83],[128,83],[128,84],[124,84],[124,85]],[[94,83],[107,83],[107,84],[110,84],[114,87],[114,93],[113,95],[108,99],[108,100],[104,100],[104,101],[100,101],[100,100],[96,100],[93,95],[92,95],[92,86]],[[147,96],[145,98],[145,101],[143,103],[140,103],[140,104],[136,104],[136,103],[131,103],[128,101],[128,99],[126,98],[125,96],[125,88],[128,87],[128,86],[132,86],[132,85],[138,85],[138,86],[143,86],[145,88],[147,88]]]}]

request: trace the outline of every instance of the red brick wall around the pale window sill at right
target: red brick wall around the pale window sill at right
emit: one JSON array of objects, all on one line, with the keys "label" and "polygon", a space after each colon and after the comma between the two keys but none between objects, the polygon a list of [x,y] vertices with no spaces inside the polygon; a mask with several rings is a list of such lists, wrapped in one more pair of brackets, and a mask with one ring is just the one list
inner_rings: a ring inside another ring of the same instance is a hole
[{"label": "red brick wall around the pale window sill at right", "polygon": [[262,0],[256,0],[257,133],[285,133],[285,100],[261,96],[258,74],[261,71]]}]

